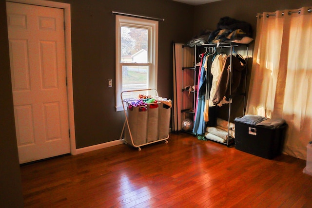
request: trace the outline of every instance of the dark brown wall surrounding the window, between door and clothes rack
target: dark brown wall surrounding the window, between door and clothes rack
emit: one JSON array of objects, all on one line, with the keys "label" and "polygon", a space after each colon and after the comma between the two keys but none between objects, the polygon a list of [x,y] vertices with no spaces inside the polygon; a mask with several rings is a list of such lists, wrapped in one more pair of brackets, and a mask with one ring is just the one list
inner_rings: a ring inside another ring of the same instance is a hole
[{"label": "dark brown wall surrounding the window, between door and clothes rack", "polygon": [[192,36],[193,8],[170,0],[58,0],[71,4],[74,109],[77,148],[120,137],[124,113],[115,111],[115,15],[159,21],[158,94],[172,98],[172,42]]}]

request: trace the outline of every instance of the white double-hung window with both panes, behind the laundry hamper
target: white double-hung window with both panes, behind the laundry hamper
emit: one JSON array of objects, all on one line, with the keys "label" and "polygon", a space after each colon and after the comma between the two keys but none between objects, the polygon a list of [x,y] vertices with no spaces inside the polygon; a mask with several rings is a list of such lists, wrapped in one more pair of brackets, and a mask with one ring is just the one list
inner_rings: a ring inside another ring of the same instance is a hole
[{"label": "white double-hung window with both panes, behind the laundry hamper", "polygon": [[[123,91],[157,88],[158,22],[116,16],[116,110]],[[123,98],[134,98],[123,94]],[[137,96],[137,95],[135,95]]]}]

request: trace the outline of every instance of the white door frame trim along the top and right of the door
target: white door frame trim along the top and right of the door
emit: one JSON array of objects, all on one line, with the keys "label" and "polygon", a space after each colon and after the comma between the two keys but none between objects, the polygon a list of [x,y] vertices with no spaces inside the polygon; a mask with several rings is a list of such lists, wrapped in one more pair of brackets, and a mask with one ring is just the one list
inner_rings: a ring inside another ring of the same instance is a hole
[{"label": "white door frame trim along the top and right of the door", "polygon": [[69,121],[69,129],[70,129],[70,149],[71,149],[71,154],[77,154],[76,137],[75,137],[75,121],[74,121],[70,4],[55,2],[55,1],[48,1],[48,0],[6,0],[6,1],[38,5],[38,6],[47,6],[47,7],[59,8],[59,9],[64,10],[65,59],[66,59],[66,77],[67,77],[68,121]]}]

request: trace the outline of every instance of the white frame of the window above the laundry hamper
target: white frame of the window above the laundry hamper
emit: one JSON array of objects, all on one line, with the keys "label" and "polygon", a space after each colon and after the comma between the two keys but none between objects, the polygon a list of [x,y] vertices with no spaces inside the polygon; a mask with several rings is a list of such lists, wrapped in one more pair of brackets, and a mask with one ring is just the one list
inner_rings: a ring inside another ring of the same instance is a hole
[{"label": "white frame of the window above the laundry hamper", "polygon": [[[121,63],[121,27],[136,27],[149,30],[148,63]],[[116,111],[123,111],[122,93],[122,66],[149,66],[148,89],[157,89],[157,62],[158,62],[158,21],[116,15]]]}]

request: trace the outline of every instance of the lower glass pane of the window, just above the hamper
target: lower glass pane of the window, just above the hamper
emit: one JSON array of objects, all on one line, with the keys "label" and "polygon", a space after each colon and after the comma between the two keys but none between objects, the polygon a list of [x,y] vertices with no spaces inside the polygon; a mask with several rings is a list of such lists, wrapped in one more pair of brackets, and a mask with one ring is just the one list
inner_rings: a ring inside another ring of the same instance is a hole
[{"label": "lower glass pane of the window, just above the hamper", "polygon": [[148,66],[122,66],[122,91],[148,88]]}]

